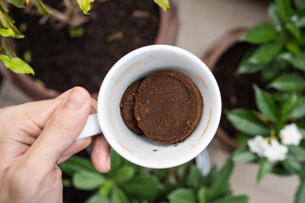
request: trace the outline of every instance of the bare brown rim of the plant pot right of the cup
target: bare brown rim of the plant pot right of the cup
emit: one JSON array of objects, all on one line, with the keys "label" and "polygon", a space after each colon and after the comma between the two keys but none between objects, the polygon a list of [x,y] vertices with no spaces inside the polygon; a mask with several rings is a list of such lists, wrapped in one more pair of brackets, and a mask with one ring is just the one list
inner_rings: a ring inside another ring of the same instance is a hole
[{"label": "bare brown rim of the plant pot right of the cup", "polygon": [[[228,33],[225,37],[220,39],[202,58],[202,61],[214,72],[214,69],[221,59],[223,54],[227,52],[232,46],[234,46],[238,39],[241,38],[247,32],[248,28],[239,28]],[[227,76],[234,77],[234,76]],[[230,151],[235,150],[239,147],[237,143],[221,126],[218,127],[216,137],[219,141]]]}]

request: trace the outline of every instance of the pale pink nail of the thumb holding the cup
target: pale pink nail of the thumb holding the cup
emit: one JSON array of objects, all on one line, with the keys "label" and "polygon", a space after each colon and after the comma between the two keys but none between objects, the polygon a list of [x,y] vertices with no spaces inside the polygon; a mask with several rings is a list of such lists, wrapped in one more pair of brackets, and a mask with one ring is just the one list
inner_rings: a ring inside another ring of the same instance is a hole
[{"label": "pale pink nail of the thumb holding the cup", "polygon": [[85,90],[80,87],[75,87],[69,93],[66,103],[69,106],[79,109],[83,106],[83,104],[85,104],[86,98],[87,98],[87,94]]}]

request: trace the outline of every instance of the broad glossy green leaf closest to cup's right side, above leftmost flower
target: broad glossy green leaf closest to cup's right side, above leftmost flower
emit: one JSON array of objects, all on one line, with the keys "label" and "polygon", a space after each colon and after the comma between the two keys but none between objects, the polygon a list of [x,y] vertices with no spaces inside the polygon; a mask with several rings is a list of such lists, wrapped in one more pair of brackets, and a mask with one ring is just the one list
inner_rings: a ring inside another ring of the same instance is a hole
[{"label": "broad glossy green leaf closest to cup's right side, above leftmost flower", "polygon": [[232,125],[242,133],[252,136],[257,134],[267,136],[270,132],[266,124],[248,110],[234,109],[226,111],[225,114]]}]

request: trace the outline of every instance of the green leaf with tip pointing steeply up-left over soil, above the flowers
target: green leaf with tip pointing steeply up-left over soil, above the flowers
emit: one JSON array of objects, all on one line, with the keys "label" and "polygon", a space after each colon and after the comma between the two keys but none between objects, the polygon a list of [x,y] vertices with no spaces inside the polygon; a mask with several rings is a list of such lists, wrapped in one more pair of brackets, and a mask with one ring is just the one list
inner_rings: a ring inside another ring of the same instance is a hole
[{"label": "green leaf with tip pointing steeply up-left over soil, above the flowers", "polygon": [[272,96],[268,92],[260,89],[257,85],[253,85],[253,88],[255,91],[256,106],[259,111],[263,113],[268,120],[277,122],[278,110]]}]

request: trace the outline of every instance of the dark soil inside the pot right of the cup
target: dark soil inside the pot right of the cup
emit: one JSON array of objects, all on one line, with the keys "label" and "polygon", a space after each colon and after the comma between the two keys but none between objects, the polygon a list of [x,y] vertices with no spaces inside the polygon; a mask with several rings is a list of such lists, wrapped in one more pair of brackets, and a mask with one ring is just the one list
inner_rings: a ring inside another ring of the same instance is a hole
[{"label": "dark soil inside the pot right of the cup", "polygon": [[[260,73],[234,76],[242,56],[253,47],[250,44],[238,43],[223,54],[215,66],[214,76],[220,88],[223,110],[235,108],[257,110],[252,84],[256,83],[258,86],[262,84]],[[231,137],[239,133],[224,113],[221,115],[220,126]]]}]

